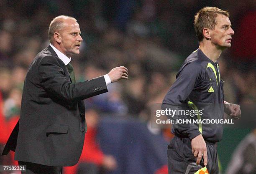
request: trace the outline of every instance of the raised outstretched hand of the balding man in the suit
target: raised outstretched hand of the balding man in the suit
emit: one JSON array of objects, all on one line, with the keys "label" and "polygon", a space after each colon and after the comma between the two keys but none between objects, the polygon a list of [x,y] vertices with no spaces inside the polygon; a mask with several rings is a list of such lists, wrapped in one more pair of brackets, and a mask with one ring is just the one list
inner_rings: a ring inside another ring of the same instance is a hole
[{"label": "raised outstretched hand of the balding man in the suit", "polygon": [[109,73],[108,76],[111,80],[111,82],[116,82],[121,79],[128,79],[128,69],[124,66],[119,66],[116,68],[113,68]]}]

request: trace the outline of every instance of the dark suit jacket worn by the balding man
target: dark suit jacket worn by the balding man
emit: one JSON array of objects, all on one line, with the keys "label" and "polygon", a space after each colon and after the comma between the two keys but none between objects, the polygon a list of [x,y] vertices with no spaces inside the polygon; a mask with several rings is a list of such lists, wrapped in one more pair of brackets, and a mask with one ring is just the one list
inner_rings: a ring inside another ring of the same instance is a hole
[{"label": "dark suit jacket worn by the balding man", "polygon": [[87,126],[83,99],[108,92],[104,76],[72,83],[65,64],[51,46],[28,68],[20,120],[3,154],[48,166],[73,166],[82,153]]}]

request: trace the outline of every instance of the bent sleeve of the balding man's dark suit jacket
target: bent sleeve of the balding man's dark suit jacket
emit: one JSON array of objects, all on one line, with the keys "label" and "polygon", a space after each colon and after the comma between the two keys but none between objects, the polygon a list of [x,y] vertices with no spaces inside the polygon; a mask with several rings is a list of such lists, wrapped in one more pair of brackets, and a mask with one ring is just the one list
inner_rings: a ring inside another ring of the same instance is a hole
[{"label": "bent sleeve of the balding man's dark suit jacket", "polygon": [[38,65],[39,82],[47,93],[62,100],[77,101],[108,92],[104,76],[71,83],[65,76],[65,65],[54,56],[42,58]]}]

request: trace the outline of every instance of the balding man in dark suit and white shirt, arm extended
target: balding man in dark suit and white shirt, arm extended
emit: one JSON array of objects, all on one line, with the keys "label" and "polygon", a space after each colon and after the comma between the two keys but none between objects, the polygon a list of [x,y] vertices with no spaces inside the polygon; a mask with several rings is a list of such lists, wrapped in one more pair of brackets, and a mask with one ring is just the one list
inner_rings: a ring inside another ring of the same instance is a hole
[{"label": "balding man in dark suit and white shirt, arm extended", "polygon": [[128,70],[121,66],[105,76],[75,82],[69,62],[82,42],[75,18],[54,18],[49,40],[28,68],[20,120],[3,150],[15,151],[15,160],[27,166],[22,174],[60,174],[61,166],[77,164],[87,129],[83,100],[108,92],[111,82],[128,79]]}]

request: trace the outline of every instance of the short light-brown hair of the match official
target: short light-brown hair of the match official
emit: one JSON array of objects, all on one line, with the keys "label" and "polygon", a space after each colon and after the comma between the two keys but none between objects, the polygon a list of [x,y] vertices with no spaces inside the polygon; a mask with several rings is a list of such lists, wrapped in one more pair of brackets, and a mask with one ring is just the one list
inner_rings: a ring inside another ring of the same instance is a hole
[{"label": "short light-brown hair of the match official", "polygon": [[221,10],[217,7],[205,7],[201,8],[195,15],[194,25],[195,32],[199,41],[202,41],[204,38],[203,29],[209,28],[213,30],[215,25],[217,25],[217,16],[218,14],[225,15],[229,17],[228,11]]}]

